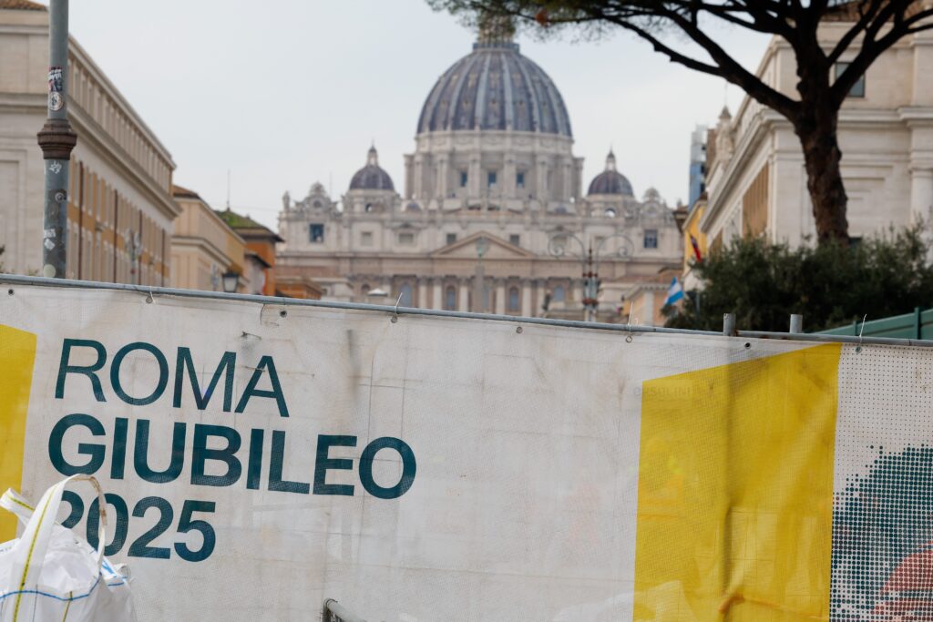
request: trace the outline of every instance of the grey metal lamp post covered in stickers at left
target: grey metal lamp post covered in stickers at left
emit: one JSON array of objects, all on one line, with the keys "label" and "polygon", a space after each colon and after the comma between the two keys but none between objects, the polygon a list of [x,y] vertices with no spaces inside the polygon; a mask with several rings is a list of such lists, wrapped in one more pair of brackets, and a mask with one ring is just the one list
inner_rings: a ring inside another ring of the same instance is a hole
[{"label": "grey metal lamp post covered in stickers at left", "polygon": [[77,134],[68,123],[68,0],[49,4],[49,117],[36,136],[45,159],[42,276],[63,279],[67,261],[68,165]]}]

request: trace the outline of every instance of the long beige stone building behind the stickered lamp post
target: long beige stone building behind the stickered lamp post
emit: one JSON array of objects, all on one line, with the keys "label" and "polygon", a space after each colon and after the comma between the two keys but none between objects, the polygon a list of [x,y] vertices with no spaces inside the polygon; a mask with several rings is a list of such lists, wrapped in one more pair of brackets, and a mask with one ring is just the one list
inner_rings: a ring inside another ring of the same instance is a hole
[{"label": "long beige stone building behind the stickered lamp post", "polygon": [[[5,270],[41,268],[49,13],[0,0],[0,245]],[[171,284],[174,162],[158,137],[74,39],[68,110],[77,147],[68,190],[69,278]]]}]

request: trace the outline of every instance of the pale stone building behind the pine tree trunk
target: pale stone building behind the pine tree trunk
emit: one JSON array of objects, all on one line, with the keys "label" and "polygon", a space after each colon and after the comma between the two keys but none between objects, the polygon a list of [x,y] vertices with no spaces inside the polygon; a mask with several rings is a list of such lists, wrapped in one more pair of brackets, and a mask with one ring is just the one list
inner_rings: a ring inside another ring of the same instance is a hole
[{"label": "pale stone building behind the pine tree trunk", "polygon": [[[833,48],[851,26],[824,22],[820,44]],[[774,38],[757,75],[797,98],[796,69],[787,41]],[[710,136],[708,200],[691,206],[702,214],[690,220],[712,248],[736,235],[791,244],[815,235],[801,145],[787,119],[746,97],[734,117],[723,109]],[[869,67],[842,104],[838,137],[851,236],[931,222],[933,31],[901,39]]]}]

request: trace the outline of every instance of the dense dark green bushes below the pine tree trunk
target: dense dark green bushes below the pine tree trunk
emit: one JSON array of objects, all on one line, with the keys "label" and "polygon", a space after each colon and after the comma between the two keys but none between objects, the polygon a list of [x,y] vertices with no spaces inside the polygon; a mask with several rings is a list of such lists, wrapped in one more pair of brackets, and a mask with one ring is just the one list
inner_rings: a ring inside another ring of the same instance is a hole
[{"label": "dense dark green bushes below the pine tree trunk", "polygon": [[663,311],[666,325],[720,330],[735,313],[745,330],[786,331],[801,313],[807,332],[933,305],[931,246],[916,226],[863,242],[786,243],[736,238],[692,270],[703,286]]}]

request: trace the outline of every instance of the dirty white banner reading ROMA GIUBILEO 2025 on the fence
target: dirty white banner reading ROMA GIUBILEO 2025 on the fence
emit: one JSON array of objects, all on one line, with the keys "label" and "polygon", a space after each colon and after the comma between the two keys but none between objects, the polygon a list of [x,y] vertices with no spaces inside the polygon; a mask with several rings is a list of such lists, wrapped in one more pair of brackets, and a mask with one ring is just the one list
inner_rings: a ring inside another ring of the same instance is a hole
[{"label": "dirty white banner reading ROMA GIUBILEO 2025 on the fence", "polygon": [[933,607],[924,349],[10,287],[0,487],[97,477],[144,620]]}]

